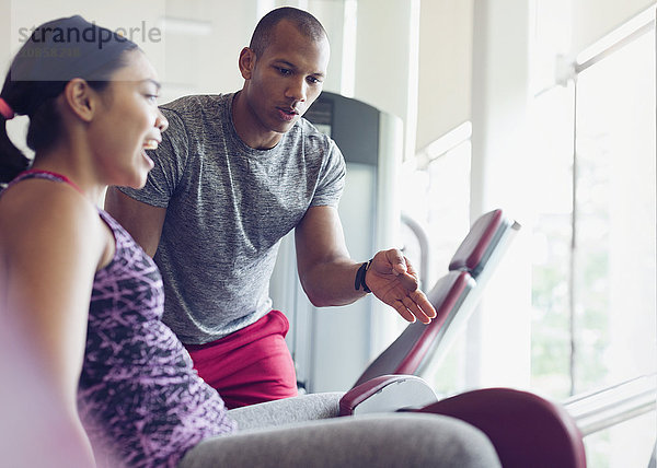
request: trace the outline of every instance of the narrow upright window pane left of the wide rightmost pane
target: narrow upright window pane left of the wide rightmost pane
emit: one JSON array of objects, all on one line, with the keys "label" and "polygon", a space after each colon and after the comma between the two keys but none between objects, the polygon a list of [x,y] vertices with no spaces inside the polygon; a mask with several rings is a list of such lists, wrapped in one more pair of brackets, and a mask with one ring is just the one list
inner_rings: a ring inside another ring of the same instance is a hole
[{"label": "narrow upright window pane left of the wide rightmost pane", "polygon": [[570,393],[573,110],[573,85],[553,87],[532,106],[531,386],[557,399]]}]

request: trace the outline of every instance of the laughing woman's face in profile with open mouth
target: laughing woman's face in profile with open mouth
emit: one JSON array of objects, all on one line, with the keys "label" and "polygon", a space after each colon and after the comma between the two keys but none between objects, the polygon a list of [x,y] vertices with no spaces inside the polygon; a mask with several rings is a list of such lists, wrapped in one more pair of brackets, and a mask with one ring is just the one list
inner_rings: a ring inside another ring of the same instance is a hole
[{"label": "laughing woman's face in profile with open mouth", "polygon": [[140,188],[153,167],[145,150],[158,147],[169,124],[158,108],[155,70],[140,50],[126,55],[126,65],[100,95],[89,136],[101,179]]}]

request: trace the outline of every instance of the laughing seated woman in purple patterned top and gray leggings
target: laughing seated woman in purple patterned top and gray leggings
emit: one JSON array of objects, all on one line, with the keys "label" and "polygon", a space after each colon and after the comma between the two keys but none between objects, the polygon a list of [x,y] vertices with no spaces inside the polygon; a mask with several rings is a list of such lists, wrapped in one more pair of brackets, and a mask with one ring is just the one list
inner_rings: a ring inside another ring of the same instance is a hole
[{"label": "laughing seated woman in purple patterned top and gray leggings", "polygon": [[[111,39],[100,47],[76,34],[90,27]],[[160,321],[157,267],[96,208],[108,185],[145,184],[153,166],[145,150],[157,147],[168,126],[155,102],[159,87],[135,44],[73,16],[35,31],[0,92],[0,124],[27,115],[35,151],[34,161],[26,160],[0,125],[0,182],[11,180],[0,194],[3,338],[21,343],[12,359],[27,353],[25,371],[38,377],[21,381],[36,382],[23,399],[47,394],[57,410],[64,463],[494,466],[481,433],[433,416],[276,428],[335,416],[338,395],[227,412]],[[234,433],[235,420],[258,430]],[[19,454],[18,463],[27,455]]]}]

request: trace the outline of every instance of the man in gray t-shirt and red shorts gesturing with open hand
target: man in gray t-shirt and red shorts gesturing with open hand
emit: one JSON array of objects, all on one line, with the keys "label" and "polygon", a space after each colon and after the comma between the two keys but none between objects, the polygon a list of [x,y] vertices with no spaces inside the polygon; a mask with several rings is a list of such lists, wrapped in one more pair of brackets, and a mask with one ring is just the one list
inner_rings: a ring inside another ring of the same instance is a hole
[{"label": "man in gray t-shirt and red shorts gesturing with open hand", "polygon": [[436,314],[399,250],[349,258],[336,209],[344,159],[301,118],[322,91],[328,54],[314,16],[269,12],[240,54],[242,90],[162,106],[170,127],[146,187],[107,194],[107,211],[162,270],[164,321],[229,408],[297,394],[289,324],[268,296],[279,241],[291,230],[315,306],[371,290],[407,320]]}]

